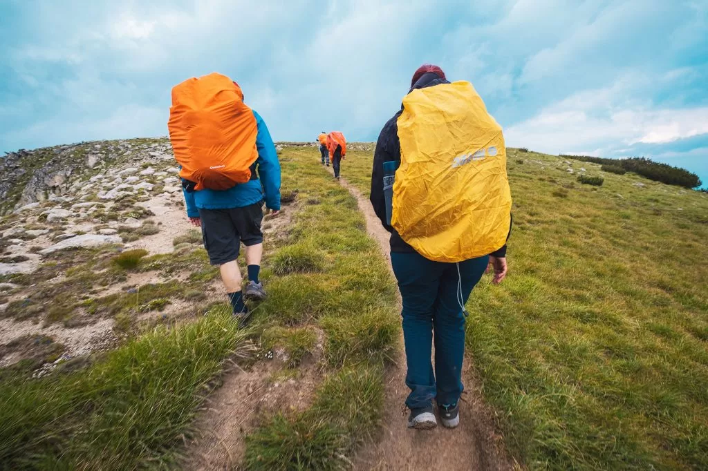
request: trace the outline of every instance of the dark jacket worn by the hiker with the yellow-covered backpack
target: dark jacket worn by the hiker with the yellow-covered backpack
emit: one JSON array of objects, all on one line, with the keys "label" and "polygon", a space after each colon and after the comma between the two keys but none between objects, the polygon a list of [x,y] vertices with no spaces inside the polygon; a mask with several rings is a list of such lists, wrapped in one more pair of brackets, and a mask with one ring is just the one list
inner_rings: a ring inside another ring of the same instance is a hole
[{"label": "dark jacket worn by the hiker with the yellow-covered backpack", "polygon": [[[447,80],[440,79],[437,74],[428,72],[423,74],[418,81],[413,85],[411,91],[418,88],[432,87],[440,85],[440,83],[450,83]],[[386,124],[384,129],[379,134],[379,140],[376,142],[376,151],[374,152],[374,168],[371,172],[371,204],[374,207],[376,215],[381,219],[384,228],[391,233],[391,251],[392,252],[415,252],[392,228],[386,223],[386,200],[384,199],[384,162],[401,161],[401,142],[398,136],[398,119],[403,112],[403,107],[392,117]],[[491,254],[495,257],[506,257],[506,245]]]}]

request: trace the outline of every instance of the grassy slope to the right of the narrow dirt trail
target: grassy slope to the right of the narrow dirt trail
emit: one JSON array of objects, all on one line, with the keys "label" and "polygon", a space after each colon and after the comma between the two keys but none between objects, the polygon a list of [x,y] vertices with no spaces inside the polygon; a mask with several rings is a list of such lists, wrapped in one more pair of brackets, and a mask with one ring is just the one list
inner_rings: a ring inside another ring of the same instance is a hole
[{"label": "grassy slope to the right of the narrow dirt trail", "polygon": [[[473,291],[467,347],[511,450],[532,469],[708,469],[708,195],[508,154],[510,274]],[[371,164],[350,152],[342,175],[368,194]]]}]

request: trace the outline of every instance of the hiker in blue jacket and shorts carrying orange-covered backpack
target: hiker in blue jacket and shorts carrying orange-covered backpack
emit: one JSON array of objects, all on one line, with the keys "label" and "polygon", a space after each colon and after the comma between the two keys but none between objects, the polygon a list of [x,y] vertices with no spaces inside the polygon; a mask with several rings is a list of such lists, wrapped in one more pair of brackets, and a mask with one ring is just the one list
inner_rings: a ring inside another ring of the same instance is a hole
[{"label": "hiker in blue jacket and shorts carrying orange-covered backpack", "polygon": [[181,165],[187,216],[201,226],[204,247],[219,265],[234,316],[249,318],[236,262],[246,246],[246,298],[264,299],[258,279],[263,255],[263,202],[280,212],[280,163],[268,127],[244,103],[236,82],[221,74],[188,79],[172,89],[169,120]]}]

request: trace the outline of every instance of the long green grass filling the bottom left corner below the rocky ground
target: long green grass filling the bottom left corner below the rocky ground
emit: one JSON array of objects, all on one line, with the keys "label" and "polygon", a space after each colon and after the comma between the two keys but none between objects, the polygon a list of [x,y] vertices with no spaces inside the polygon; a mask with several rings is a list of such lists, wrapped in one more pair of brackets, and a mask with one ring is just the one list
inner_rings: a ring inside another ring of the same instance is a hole
[{"label": "long green grass filling the bottom left corner below the rocky ground", "polygon": [[0,384],[0,462],[9,469],[174,465],[224,361],[248,351],[250,333],[224,311],[158,328],[86,372]]}]

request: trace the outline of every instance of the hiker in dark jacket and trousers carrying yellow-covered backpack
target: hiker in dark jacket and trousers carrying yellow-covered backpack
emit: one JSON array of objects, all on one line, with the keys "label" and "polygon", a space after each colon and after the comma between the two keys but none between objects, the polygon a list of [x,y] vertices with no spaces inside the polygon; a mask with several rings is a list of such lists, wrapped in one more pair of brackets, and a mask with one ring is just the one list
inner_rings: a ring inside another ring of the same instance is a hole
[{"label": "hiker in dark jacket and trousers carrying yellow-covered backpack", "polygon": [[[511,195],[501,127],[469,82],[440,67],[413,74],[401,110],[379,135],[371,203],[391,233],[391,262],[403,299],[411,393],[408,426],[459,424],[464,308],[488,264],[506,277]],[[430,353],[435,339],[435,371]]]}]

